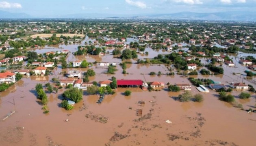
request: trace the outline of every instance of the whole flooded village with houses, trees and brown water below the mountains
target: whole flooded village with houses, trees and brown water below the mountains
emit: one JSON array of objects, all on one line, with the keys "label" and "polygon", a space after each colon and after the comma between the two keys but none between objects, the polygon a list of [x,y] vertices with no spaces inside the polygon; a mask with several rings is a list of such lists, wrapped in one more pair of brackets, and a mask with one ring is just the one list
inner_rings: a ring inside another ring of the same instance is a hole
[{"label": "whole flooded village with houses, trees and brown water below the mountains", "polygon": [[253,23],[1,22],[3,146],[254,146]]}]

